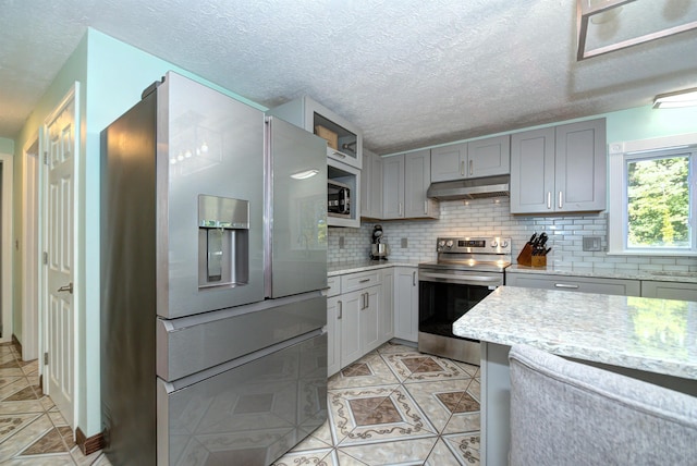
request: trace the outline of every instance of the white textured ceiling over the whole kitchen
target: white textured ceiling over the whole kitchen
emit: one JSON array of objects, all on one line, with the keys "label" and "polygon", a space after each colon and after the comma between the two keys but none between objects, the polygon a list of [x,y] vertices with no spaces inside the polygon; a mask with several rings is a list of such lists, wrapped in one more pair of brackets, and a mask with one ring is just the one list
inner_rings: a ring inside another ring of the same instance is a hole
[{"label": "white textured ceiling over the whole kitchen", "polygon": [[0,0],[0,137],[87,26],[266,107],[307,94],[378,154],[697,87],[697,32],[576,62],[575,12],[574,0]]}]

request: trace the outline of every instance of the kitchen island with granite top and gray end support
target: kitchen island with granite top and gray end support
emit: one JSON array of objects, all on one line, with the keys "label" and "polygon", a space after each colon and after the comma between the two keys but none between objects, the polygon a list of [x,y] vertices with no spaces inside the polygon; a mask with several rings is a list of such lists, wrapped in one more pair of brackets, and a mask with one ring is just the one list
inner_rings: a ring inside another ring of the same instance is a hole
[{"label": "kitchen island with granite top and gray end support", "polygon": [[481,341],[481,464],[508,464],[516,343],[697,396],[695,302],[501,286],[453,333]]}]

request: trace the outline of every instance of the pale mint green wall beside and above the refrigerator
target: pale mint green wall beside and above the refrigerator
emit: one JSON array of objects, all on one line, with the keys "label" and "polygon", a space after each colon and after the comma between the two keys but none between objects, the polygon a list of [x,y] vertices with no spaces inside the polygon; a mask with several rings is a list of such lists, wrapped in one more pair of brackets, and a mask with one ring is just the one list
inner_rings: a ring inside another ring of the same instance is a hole
[{"label": "pale mint green wall beside and above the refrigerator", "polygon": [[[168,71],[174,71],[198,81],[233,98],[244,101],[259,110],[266,108],[252,102],[228,89],[196,76],[186,70],[148,54],[135,47],[123,44],[96,29],[87,33],[87,86],[85,125],[85,157],[80,177],[84,180],[82,198],[85,201],[81,224],[80,244],[84,254],[80,270],[84,283],[84,303],[81,315],[81,328],[86,329],[80,341],[80,353],[84,357],[81,366],[86,387],[81,396],[81,426],[89,436],[100,430],[99,398],[99,150],[100,133],[112,121],[140,100],[143,89],[161,77]],[[88,433],[90,432],[90,433]]]}]

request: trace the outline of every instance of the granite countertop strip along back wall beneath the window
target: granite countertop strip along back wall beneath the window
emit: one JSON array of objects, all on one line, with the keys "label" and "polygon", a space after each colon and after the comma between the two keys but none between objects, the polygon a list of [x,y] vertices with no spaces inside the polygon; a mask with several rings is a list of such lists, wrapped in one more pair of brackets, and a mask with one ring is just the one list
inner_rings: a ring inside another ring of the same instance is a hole
[{"label": "granite countertop strip along back wall beneath the window", "polygon": [[697,283],[697,272],[681,272],[670,270],[603,270],[599,268],[559,268],[559,267],[527,267],[512,265],[505,269],[506,273],[541,273],[565,277],[591,277],[624,280],[653,280],[658,282]]}]

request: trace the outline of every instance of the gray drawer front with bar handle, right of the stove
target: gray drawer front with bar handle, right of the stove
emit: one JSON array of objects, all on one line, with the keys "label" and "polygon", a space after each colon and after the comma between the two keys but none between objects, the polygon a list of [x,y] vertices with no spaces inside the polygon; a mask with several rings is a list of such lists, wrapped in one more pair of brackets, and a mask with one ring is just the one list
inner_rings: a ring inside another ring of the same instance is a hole
[{"label": "gray drawer front with bar handle, right of the stove", "polygon": [[505,284],[530,289],[574,291],[580,293],[641,296],[638,280],[567,277],[541,273],[506,273]]}]

